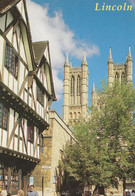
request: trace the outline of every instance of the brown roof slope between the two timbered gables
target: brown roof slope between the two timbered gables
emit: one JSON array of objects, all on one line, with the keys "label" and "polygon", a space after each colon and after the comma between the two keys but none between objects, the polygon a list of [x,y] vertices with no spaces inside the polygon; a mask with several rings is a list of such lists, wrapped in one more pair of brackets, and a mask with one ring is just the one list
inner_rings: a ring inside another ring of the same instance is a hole
[{"label": "brown roof slope between the two timbered gables", "polygon": [[35,61],[37,64],[40,63],[47,45],[48,45],[48,41],[33,42]]}]

